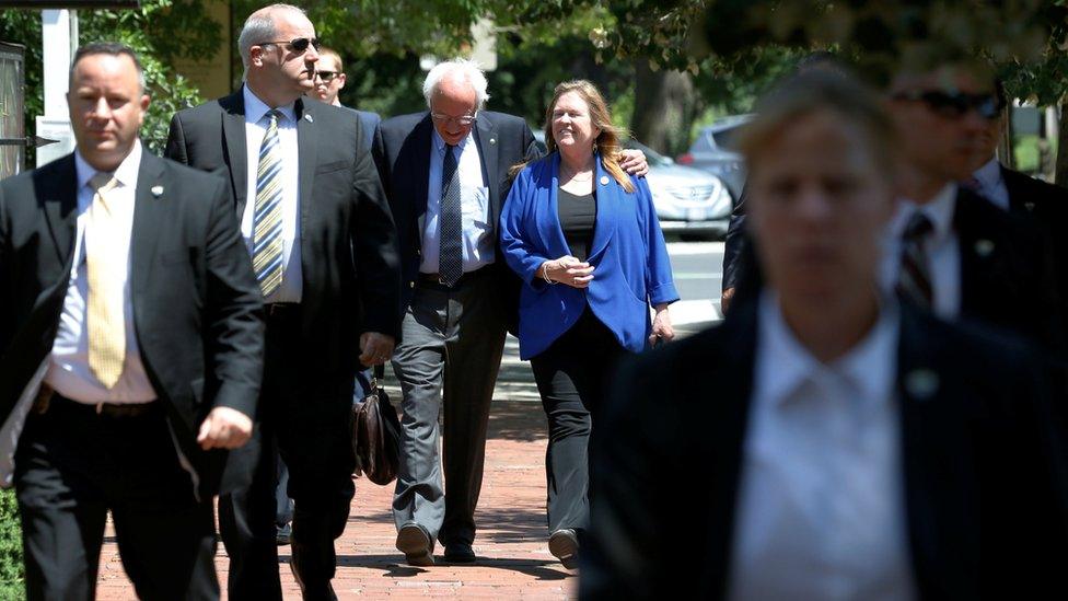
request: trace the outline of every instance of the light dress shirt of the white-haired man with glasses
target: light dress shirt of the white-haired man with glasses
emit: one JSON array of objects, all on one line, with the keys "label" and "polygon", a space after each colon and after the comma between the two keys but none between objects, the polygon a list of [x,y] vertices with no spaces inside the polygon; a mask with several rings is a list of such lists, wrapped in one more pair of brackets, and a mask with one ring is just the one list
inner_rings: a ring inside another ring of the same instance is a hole
[{"label": "light dress shirt of the white-haired man with glasses", "polygon": [[[430,181],[427,186],[427,213],[422,222],[422,261],[419,270],[438,273],[441,251],[439,220],[441,213],[441,172],[445,160],[445,140],[438,130],[430,138]],[[460,201],[463,207],[464,273],[474,271],[494,262],[497,230],[489,219],[489,188],[483,178],[483,164],[474,132],[456,145],[456,167],[460,170]]]}]

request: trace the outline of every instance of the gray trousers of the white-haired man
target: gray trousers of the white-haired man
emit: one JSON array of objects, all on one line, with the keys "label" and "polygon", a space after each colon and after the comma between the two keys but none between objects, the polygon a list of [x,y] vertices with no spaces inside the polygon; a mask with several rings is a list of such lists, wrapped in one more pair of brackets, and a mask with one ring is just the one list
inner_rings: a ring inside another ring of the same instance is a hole
[{"label": "gray trousers of the white-haired man", "polygon": [[[417,285],[393,358],[404,395],[393,517],[397,529],[418,523],[442,544],[475,539],[489,404],[504,349],[496,287],[491,273],[454,289]],[[438,454],[442,403],[444,487]]]}]

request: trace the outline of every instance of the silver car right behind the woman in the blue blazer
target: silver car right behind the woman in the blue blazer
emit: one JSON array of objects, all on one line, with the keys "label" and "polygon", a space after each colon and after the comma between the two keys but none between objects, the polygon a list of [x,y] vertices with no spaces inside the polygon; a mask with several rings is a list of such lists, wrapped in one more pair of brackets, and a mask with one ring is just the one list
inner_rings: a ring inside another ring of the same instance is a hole
[{"label": "silver car right behind the woman in the blue blazer", "polygon": [[[544,152],[544,132],[534,130],[534,138]],[[623,140],[623,146],[642,151],[649,161],[646,181],[664,232],[681,233],[685,238],[713,238],[727,233],[731,194],[719,177],[676,164],[634,139]]]}]

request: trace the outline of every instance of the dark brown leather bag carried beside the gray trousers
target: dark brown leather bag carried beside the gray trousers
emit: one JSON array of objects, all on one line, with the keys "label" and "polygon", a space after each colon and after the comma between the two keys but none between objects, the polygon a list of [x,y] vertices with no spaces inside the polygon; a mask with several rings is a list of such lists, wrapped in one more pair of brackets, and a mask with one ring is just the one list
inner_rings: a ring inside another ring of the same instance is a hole
[{"label": "dark brown leather bag carried beside the gray trousers", "polygon": [[380,486],[396,479],[400,465],[400,419],[390,397],[379,386],[382,375],[382,366],[375,367],[370,392],[363,401],[352,405],[356,475],[362,473]]}]

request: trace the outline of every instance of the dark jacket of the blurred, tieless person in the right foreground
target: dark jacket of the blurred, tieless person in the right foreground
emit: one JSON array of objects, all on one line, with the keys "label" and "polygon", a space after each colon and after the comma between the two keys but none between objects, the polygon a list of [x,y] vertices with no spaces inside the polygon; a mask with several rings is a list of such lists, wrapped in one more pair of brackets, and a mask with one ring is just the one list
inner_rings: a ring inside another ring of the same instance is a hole
[{"label": "dark jacket of the blurred, tieless person in the right foreground", "polygon": [[[580,597],[727,596],[755,304],[617,371],[592,449]],[[1068,476],[1026,348],[903,307],[896,381],[919,598],[1066,598]]]}]

